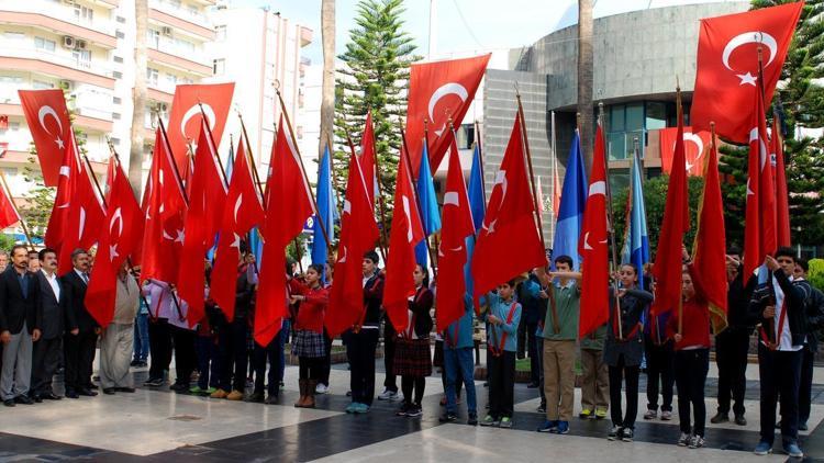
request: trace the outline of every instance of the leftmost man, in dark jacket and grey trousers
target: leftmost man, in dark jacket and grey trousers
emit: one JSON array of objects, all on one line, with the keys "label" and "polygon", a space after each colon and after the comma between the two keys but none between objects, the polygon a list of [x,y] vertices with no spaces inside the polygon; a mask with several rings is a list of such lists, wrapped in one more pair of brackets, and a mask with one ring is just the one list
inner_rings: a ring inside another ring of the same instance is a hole
[{"label": "leftmost man, in dark jacket and grey trousers", "polygon": [[7,407],[31,405],[32,342],[40,339],[37,279],[30,273],[29,256],[23,245],[11,249],[12,266],[0,274],[0,341],[3,366],[0,373],[0,398]]}]

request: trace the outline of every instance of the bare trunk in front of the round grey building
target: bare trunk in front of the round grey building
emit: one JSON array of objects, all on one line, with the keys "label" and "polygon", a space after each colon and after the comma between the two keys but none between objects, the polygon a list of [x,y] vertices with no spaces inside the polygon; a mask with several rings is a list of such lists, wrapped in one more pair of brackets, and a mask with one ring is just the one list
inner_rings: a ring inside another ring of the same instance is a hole
[{"label": "bare trunk in front of the round grey building", "polygon": [[592,140],[595,133],[592,87],[592,0],[578,0],[578,113],[581,150],[587,168],[592,166]]}]

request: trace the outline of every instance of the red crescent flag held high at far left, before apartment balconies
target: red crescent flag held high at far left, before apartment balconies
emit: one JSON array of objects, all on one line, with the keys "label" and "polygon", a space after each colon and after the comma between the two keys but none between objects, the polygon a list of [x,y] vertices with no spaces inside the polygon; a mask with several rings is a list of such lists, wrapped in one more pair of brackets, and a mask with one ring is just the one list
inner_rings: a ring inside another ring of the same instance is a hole
[{"label": "red crescent flag held high at far left, before apartment balconies", "polygon": [[60,162],[73,136],[63,90],[18,90],[18,94],[37,149],[43,182],[46,187],[57,187]]}]

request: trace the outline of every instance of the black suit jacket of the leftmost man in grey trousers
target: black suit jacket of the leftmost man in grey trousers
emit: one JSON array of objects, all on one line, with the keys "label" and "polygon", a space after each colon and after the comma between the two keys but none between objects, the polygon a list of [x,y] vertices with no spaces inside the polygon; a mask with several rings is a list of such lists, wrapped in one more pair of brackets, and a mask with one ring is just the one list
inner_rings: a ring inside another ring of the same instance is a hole
[{"label": "black suit jacket of the leftmost man in grey trousers", "polygon": [[0,332],[19,335],[23,330],[23,321],[29,334],[40,329],[42,313],[37,304],[37,279],[31,272],[25,272],[23,278],[29,287],[26,296],[23,296],[23,287],[14,266],[9,266],[0,273]]}]

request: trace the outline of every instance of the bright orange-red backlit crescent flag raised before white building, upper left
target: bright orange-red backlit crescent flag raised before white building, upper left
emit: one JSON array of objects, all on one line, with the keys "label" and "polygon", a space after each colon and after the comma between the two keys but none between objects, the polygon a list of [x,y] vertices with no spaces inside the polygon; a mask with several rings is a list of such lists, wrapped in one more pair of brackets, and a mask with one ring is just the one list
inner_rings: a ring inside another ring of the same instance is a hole
[{"label": "bright orange-red backlit crescent flag raised before white building, upper left", "polygon": [[209,120],[214,145],[220,146],[234,91],[234,82],[187,83],[175,88],[175,99],[171,100],[169,112],[168,137],[179,171],[186,169],[187,144],[194,140],[200,121],[203,118],[198,103],[203,106],[203,113]]}]

